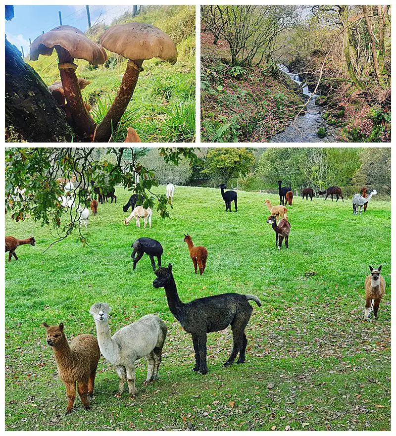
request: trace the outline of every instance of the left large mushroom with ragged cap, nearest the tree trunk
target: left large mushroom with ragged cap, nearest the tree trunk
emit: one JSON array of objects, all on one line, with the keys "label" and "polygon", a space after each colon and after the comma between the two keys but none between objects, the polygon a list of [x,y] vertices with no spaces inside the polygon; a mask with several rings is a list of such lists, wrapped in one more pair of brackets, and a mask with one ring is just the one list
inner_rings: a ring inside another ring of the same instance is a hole
[{"label": "left large mushroom with ragged cap, nearest the tree trunk", "polygon": [[93,136],[97,125],[85,108],[76,76],[74,59],[85,59],[92,65],[107,60],[105,50],[73,26],[58,26],[36,38],[30,46],[30,59],[40,54],[50,56],[55,48],[64,95],[68,102],[73,124],[81,133]]}]

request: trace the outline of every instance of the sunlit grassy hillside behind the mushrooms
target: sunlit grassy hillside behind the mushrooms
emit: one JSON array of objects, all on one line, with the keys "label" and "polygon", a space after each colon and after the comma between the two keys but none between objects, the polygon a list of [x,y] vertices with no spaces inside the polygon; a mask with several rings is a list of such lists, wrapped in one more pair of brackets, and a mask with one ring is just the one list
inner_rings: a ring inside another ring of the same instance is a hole
[{"label": "sunlit grassy hillside behind the mushrooms", "polygon": [[[112,25],[146,22],[159,27],[175,41],[178,60],[175,65],[152,59],[143,64],[144,72],[124,114],[114,142],[123,142],[129,126],[143,142],[193,142],[195,140],[195,6],[147,6],[135,18],[124,14]],[[99,42],[105,26],[94,26],[87,34]],[[77,76],[92,81],[82,91],[92,106],[91,115],[100,122],[117,94],[127,60],[107,52],[109,60],[97,68],[76,60]],[[46,85],[59,79],[56,53],[28,61]]]}]

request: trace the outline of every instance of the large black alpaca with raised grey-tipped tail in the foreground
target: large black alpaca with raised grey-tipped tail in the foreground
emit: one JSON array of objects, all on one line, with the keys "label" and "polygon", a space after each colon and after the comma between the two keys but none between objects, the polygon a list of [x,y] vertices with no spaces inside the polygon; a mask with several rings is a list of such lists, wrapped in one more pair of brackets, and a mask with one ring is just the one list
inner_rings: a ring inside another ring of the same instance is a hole
[{"label": "large black alpaca with raised grey-tipped tail in the foreground", "polygon": [[239,293],[223,293],[183,303],[177,293],[172,275],[172,265],[168,268],[158,268],[157,278],[152,282],[154,288],[165,288],[168,306],[173,316],[187,333],[193,336],[195,351],[194,371],[207,373],[206,366],[206,334],[224,330],[231,324],[234,346],[231,355],[224,366],[232,365],[237,354],[237,363],[245,362],[247,339],[245,327],[250,319],[253,308],[247,300],[253,300],[257,306],[261,301],[254,295]]}]

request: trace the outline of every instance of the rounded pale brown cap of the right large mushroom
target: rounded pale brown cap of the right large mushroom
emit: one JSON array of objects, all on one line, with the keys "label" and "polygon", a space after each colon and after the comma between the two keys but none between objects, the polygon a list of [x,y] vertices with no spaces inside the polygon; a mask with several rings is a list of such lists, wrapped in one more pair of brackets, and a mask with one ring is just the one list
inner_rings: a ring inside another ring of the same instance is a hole
[{"label": "rounded pale brown cap of the right large mushroom", "polygon": [[177,60],[175,43],[165,32],[147,23],[111,26],[100,37],[100,44],[107,50],[131,60],[157,57],[169,61],[172,65]]}]

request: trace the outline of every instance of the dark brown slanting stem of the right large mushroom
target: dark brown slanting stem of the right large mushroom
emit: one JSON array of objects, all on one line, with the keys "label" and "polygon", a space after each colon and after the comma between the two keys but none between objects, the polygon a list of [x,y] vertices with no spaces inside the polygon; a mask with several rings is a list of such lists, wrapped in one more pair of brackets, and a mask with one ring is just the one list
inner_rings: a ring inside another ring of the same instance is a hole
[{"label": "dark brown slanting stem of the right large mushroom", "polygon": [[142,69],[143,60],[128,60],[127,68],[121,81],[120,89],[113,104],[100,123],[95,136],[95,142],[108,142],[111,136],[111,126],[113,130],[120,121],[128,103],[131,101],[133,92],[138,82],[139,73]]}]

